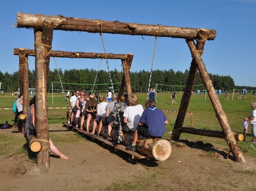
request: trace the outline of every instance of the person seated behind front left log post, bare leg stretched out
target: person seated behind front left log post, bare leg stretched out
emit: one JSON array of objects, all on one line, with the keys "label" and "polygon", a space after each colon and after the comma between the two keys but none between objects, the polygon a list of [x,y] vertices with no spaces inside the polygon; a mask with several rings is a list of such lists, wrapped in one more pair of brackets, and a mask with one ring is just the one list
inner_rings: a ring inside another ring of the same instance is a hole
[{"label": "person seated behind front left log post, bare leg stretched out", "polygon": [[[35,104],[35,96],[30,100],[29,102],[29,109],[27,112],[27,121],[26,121],[26,127],[25,127],[25,134],[28,138],[29,135],[34,135],[36,137],[36,131],[37,131],[37,123],[36,123],[36,104]],[[49,139],[50,142],[50,150],[52,153],[58,155],[60,159],[69,159],[66,155],[61,153],[56,146],[54,146],[54,143],[51,139]]]}]

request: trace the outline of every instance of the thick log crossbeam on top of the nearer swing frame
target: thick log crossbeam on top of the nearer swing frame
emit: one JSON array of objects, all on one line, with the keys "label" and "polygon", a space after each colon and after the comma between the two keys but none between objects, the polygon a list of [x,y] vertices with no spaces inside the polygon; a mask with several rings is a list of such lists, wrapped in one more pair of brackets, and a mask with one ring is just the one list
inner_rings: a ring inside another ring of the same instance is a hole
[{"label": "thick log crossbeam on top of the nearer swing frame", "polygon": [[[111,34],[144,35],[184,39],[197,39],[196,28],[183,28],[163,25],[145,25],[137,23],[123,23],[120,21],[103,21],[98,19],[78,19],[73,17],[50,16],[42,14],[17,13],[18,28],[42,28],[44,19],[54,20],[54,30],[102,32]],[[216,31],[207,29],[207,40],[216,38]]]}]

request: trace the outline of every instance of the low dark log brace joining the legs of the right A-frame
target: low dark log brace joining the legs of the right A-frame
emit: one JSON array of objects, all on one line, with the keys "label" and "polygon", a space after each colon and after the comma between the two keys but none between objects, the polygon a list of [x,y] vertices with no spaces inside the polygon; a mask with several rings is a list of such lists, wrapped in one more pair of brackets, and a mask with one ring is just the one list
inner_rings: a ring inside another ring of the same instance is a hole
[{"label": "low dark log brace joining the legs of the right A-frame", "polygon": [[[182,127],[182,133],[196,134],[196,135],[225,139],[225,134],[222,131],[196,129],[194,127]],[[235,136],[236,141],[243,140],[243,134],[236,133],[234,136]]]}]

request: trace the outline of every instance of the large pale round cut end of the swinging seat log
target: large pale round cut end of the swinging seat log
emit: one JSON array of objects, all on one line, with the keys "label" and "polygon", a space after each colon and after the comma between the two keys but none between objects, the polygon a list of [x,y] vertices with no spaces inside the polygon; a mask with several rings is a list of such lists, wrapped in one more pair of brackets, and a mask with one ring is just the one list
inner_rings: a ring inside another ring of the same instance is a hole
[{"label": "large pale round cut end of the swinging seat log", "polygon": [[153,146],[152,154],[156,160],[164,161],[168,159],[172,152],[171,144],[168,140],[158,140]]}]

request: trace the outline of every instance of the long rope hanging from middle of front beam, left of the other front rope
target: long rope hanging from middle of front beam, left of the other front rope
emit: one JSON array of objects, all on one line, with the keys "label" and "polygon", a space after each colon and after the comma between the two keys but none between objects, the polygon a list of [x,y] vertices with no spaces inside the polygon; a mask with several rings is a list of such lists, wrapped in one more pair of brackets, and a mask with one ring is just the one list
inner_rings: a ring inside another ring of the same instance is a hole
[{"label": "long rope hanging from middle of front beam, left of the other front rope", "polygon": [[[110,79],[110,83],[111,83],[111,87],[112,87],[112,92],[113,92],[113,96],[114,96],[114,99],[115,99],[115,107],[116,107],[117,106],[117,101],[116,101],[116,98],[115,98],[115,90],[114,90],[114,86],[113,86],[113,82],[112,82],[112,77],[111,77],[111,74],[110,74],[110,69],[109,69],[109,65],[108,65],[108,57],[107,57],[107,53],[106,53],[106,50],[105,50],[103,36],[102,36],[102,21],[101,20],[100,20],[100,24],[101,24],[101,33],[100,33],[101,41],[102,41],[102,45],[103,45],[104,54],[105,54],[105,57],[106,57],[106,63],[107,63],[107,67],[108,67],[108,75],[109,75],[109,79]],[[119,122],[117,144],[119,144],[122,141],[122,126],[121,126],[121,118],[120,118],[119,112],[117,112],[117,119],[118,119],[118,122]]]}]

